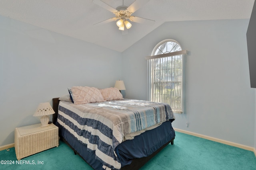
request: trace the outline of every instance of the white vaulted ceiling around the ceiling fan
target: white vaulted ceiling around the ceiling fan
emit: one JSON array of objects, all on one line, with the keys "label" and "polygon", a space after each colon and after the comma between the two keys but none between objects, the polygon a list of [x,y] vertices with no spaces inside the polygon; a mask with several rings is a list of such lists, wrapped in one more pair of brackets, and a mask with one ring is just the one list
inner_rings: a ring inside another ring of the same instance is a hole
[{"label": "white vaulted ceiling around the ceiling fan", "polygon": [[[134,0],[102,0],[116,8]],[[155,20],[132,22],[122,35],[116,22],[94,25],[115,15],[92,0],[0,0],[0,15],[122,52],[166,21],[250,18],[254,0],[150,0],[133,16]]]}]

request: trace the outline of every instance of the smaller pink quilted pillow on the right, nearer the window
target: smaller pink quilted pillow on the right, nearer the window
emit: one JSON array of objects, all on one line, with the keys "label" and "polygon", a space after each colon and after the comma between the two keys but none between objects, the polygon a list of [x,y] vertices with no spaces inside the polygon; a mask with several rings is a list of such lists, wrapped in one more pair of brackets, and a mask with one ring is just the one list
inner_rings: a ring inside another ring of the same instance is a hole
[{"label": "smaller pink quilted pillow on the right, nearer the window", "polygon": [[104,100],[119,100],[123,99],[123,95],[117,88],[110,87],[100,90]]}]

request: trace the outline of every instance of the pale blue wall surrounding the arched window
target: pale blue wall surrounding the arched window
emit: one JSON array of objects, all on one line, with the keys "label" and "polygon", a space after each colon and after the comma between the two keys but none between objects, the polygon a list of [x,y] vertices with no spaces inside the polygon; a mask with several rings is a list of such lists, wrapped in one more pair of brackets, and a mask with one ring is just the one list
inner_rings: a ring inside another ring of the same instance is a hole
[{"label": "pale blue wall surrounding the arched window", "polygon": [[[122,53],[126,98],[147,99],[147,62],[157,43],[178,41],[187,56],[187,113],[178,129],[254,147],[255,92],[250,88],[249,20],[167,22]],[[186,127],[186,122],[189,125]]]}]

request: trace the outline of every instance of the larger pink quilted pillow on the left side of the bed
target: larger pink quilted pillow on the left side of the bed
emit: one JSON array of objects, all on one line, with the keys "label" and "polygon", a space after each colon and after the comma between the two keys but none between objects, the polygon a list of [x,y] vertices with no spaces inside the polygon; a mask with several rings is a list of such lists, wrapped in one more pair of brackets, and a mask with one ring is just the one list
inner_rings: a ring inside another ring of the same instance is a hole
[{"label": "larger pink quilted pillow on the left side of the bed", "polygon": [[100,90],[95,87],[74,86],[71,88],[74,104],[104,102]]}]

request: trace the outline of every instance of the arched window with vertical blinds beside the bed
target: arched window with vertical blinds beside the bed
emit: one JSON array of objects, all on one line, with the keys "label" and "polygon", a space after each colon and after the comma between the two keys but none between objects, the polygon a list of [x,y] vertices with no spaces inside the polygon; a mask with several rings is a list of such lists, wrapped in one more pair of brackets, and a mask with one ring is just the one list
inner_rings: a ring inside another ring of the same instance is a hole
[{"label": "arched window with vertical blinds beside the bed", "polygon": [[148,60],[148,100],[170,104],[174,113],[185,109],[185,55],[180,44],[166,39],[156,45]]}]

